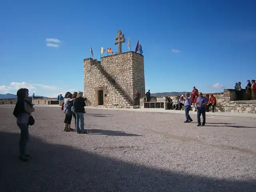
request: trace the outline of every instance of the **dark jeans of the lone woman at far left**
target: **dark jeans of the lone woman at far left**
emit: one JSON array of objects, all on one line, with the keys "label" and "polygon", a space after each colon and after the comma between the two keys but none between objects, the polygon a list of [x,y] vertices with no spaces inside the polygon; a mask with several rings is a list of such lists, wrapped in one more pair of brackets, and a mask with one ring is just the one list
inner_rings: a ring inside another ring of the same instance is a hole
[{"label": "dark jeans of the lone woman at far left", "polygon": [[25,157],[26,145],[28,142],[28,125],[26,123],[17,123],[20,128],[20,157]]}]

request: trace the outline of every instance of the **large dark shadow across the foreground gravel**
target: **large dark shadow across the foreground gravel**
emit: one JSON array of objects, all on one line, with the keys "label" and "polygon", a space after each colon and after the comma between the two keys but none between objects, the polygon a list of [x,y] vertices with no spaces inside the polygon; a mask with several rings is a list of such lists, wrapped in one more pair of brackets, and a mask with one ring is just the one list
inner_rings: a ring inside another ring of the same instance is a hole
[{"label": "large dark shadow across the foreground gravel", "polygon": [[1,192],[252,192],[256,180],[220,180],[150,168],[30,138],[30,161],[20,162],[19,134],[0,132]]}]

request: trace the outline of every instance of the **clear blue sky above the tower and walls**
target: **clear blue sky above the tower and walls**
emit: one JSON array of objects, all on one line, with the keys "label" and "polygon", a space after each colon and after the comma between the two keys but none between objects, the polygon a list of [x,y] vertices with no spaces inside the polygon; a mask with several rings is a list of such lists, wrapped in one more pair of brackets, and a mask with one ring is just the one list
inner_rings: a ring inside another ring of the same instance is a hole
[{"label": "clear blue sky above the tower and walls", "polygon": [[255,9],[255,0],[2,1],[0,93],[83,91],[90,46],[98,59],[101,46],[117,52],[119,29],[123,52],[140,40],[152,93],[245,87],[256,79]]}]

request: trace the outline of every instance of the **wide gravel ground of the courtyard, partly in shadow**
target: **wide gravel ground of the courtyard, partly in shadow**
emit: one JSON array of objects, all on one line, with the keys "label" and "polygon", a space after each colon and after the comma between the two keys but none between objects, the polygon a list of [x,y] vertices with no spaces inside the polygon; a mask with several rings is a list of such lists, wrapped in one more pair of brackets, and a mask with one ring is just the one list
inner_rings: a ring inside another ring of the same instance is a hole
[{"label": "wide gravel ground of the courtyard, partly in shadow", "polygon": [[60,108],[36,107],[20,162],[13,109],[0,106],[1,192],[256,192],[256,119],[87,109],[90,134],[76,134]]}]

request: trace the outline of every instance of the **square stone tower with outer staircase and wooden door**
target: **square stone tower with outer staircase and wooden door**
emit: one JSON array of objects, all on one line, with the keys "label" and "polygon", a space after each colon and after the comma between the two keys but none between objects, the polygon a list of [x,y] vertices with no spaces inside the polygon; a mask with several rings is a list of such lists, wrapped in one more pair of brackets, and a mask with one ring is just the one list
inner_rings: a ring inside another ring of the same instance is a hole
[{"label": "square stone tower with outer staircase and wooden door", "polygon": [[145,96],[143,55],[131,51],[101,61],[84,59],[84,95],[90,106],[133,106],[137,90]]}]

